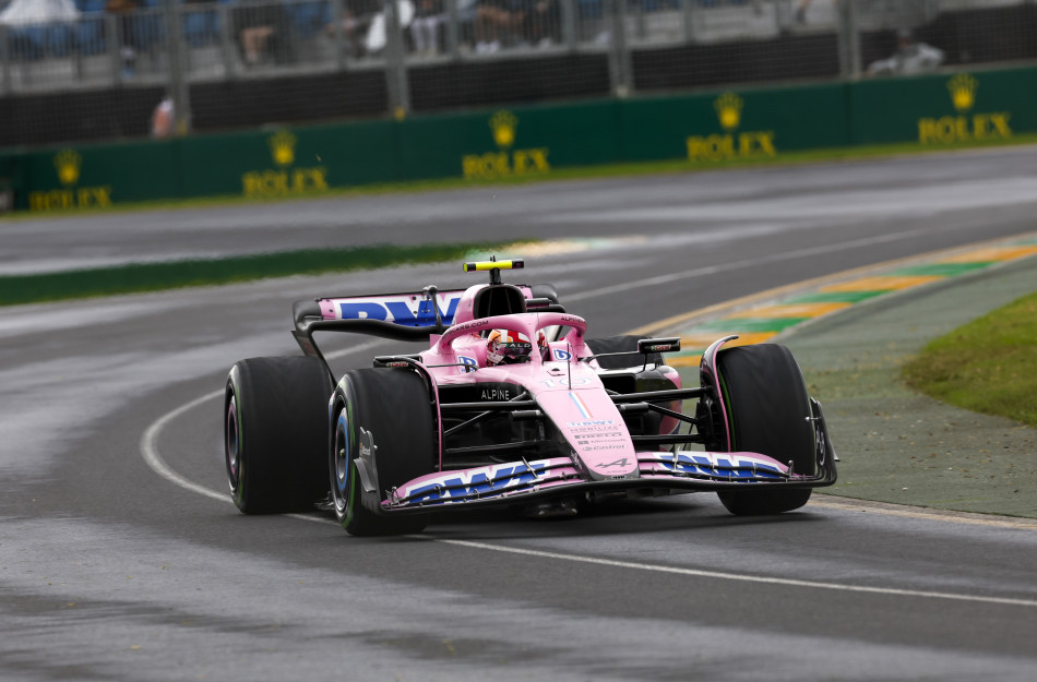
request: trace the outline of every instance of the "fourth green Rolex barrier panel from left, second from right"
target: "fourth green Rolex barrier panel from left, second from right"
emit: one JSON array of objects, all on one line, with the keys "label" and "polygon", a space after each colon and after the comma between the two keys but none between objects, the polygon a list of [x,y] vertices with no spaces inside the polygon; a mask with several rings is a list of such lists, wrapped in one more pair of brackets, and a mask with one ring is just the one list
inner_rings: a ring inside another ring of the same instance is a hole
[{"label": "fourth green Rolex barrier panel from left, second from right", "polygon": [[623,160],[708,163],[850,144],[846,85],[631,99],[620,108]]}]

